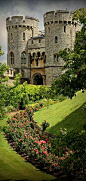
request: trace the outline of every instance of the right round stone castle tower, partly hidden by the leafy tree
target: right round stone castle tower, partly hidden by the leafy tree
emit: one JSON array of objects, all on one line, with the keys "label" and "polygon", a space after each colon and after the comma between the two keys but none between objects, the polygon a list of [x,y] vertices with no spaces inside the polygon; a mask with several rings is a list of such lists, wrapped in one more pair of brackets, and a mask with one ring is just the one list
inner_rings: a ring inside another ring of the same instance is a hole
[{"label": "right round stone castle tower, partly hidden by the leafy tree", "polygon": [[51,11],[44,14],[46,84],[51,85],[61,75],[63,60],[58,57],[60,49],[74,48],[76,32],[80,30],[79,22],[72,21],[73,13],[68,10]]}]

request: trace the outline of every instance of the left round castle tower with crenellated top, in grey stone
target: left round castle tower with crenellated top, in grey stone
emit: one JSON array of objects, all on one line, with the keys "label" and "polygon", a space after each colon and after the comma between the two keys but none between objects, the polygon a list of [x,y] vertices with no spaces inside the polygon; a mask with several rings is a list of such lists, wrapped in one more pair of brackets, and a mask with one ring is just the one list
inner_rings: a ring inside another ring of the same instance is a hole
[{"label": "left round castle tower with crenellated top, in grey stone", "polygon": [[[39,33],[39,20],[26,16],[12,16],[6,19],[8,32],[7,64],[10,77],[21,73],[30,78],[30,61],[28,59],[28,39]],[[29,80],[29,79],[28,79]],[[29,82],[29,81],[28,81]]]}]

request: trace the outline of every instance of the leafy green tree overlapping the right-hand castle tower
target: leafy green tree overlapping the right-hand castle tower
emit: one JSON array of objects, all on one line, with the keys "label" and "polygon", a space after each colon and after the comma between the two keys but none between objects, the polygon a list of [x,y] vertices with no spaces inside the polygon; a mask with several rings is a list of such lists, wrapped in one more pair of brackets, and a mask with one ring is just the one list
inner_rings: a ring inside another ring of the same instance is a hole
[{"label": "leafy green tree overlapping the right-hand castle tower", "polygon": [[76,92],[86,89],[86,10],[80,8],[74,12],[73,20],[79,19],[82,24],[81,31],[77,33],[74,50],[68,48],[60,50],[61,56],[65,62],[63,73],[60,79],[52,84],[52,90],[56,94],[63,94],[72,98]]}]

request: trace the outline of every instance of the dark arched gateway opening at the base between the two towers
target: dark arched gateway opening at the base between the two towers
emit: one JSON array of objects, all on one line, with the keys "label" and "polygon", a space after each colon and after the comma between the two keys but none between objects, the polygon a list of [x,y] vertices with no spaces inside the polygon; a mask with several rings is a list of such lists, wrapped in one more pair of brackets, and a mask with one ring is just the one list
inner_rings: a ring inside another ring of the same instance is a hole
[{"label": "dark arched gateway opening at the base between the two towers", "polygon": [[42,75],[40,73],[35,74],[33,76],[33,84],[34,85],[43,85],[43,78],[42,78]]}]

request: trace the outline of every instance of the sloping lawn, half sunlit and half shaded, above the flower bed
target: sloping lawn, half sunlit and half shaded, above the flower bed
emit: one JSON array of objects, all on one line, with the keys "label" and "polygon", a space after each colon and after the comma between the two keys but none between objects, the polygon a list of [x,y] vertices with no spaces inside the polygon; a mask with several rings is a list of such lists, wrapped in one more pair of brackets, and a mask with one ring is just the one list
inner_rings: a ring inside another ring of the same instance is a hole
[{"label": "sloping lawn, half sunlit and half shaded, above the flower bed", "polygon": [[50,123],[48,131],[58,134],[60,128],[68,130],[82,129],[82,124],[86,123],[86,110],[83,109],[83,104],[86,102],[86,92],[77,93],[73,99],[66,99],[63,102],[51,105],[49,109],[43,108],[34,114],[34,120],[38,125],[43,120]]}]

